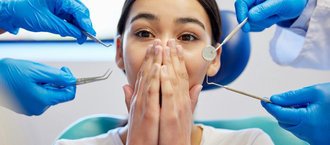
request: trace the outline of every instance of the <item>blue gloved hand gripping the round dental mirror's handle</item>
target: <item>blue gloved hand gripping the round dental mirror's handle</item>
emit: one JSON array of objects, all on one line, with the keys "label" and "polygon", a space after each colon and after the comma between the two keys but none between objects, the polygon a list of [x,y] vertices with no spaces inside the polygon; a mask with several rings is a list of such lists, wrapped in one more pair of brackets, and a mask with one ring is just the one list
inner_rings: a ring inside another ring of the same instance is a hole
[{"label": "blue gloved hand gripping the round dental mirror's handle", "polygon": [[279,21],[297,18],[308,0],[236,0],[237,21],[249,21],[242,27],[244,32],[260,32]]}]

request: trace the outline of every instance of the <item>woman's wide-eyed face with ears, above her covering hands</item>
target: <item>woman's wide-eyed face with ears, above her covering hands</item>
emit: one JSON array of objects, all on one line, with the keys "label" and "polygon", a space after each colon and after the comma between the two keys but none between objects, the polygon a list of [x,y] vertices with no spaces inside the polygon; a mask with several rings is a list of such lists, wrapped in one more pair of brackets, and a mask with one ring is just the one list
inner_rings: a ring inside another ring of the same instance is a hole
[{"label": "woman's wide-eyed face with ears, above her covering hands", "polygon": [[214,76],[217,73],[221,49],[214,61],[202,58],[203,48],[212,43],[212,30],[209,17],[197,0],[136,0],[124,33],[117,39],[116,56],[117,65],[126,70],[132,88],[135,88],[148,45],[160,39],[164,48],[171,38],[183,47],[189,90],[202,84],[205,74]]}]

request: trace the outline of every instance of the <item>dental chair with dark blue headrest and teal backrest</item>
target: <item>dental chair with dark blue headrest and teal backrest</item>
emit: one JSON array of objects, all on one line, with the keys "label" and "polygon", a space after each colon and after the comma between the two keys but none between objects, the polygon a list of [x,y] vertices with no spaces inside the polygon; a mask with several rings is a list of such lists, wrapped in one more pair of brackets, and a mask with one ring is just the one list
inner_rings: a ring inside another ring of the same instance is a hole
[{"label": "dental chair with dark blue headrest and teal backrest", "polygon": [[[236,15],[233,12],[221,11],[222,16],[222,40],[238,25]],[[222,41],[221,40],[221,41]],[[222,46],[221,67],[214,77],[209,77],[210,82],[227,85],[234,81],[244,70],[250,56],[249,34],[242,30]],[[215,85],[203,83],[203,90],[217,89]],[[80,139],[92,137],[108,132],[125,122],[127,118],[109,114],[97,114],[83,117],[66,127],[55,139]],[[276,145],[308,145],[298,139],[292,133],[282,129],[272,117],[246,117],[228,120],[195,121],[207,126],[224,129],[260,128],[266,132]]]}]

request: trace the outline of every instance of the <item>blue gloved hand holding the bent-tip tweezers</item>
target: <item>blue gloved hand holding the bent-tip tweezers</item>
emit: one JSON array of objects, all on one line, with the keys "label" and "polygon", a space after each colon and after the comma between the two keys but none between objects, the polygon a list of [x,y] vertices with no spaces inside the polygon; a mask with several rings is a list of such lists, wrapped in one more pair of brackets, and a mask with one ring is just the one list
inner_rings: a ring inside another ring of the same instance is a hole
[{"label": "blue gloved hand holding the bent-tip tweezers", "polygon": [[76,78],[67,67],[60,70],[26,60],[0,59],[0,104],[19,114],[40,115],[51,105],[73,100],[75,83]]}]

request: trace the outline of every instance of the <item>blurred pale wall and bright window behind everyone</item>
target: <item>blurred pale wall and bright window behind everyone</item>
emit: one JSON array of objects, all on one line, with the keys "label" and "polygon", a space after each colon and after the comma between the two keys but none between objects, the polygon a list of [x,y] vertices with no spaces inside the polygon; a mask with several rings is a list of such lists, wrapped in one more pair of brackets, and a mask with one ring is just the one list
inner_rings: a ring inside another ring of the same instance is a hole
[{"label": "blurred pale wall and bright window behind everyone", "polygon": [[[97,37],[112,42],[124,0],[81,0],[90,10]],[[235,11],[234,0],[217,0],[220,10]],[[330,82],[330,71],[280,66],[269,54],[269,42],[276,26],[250,33],[251,55],[244,72],[228,86],[270,97],[289,90]],[[28,42],[25,42],[28,41]],[[47,41],[47,42],[45,42]],[[50,41],[50,42],[49,42]],[[47,145],[68,125],[92,114],[127,116],[122,85],[127,84],[118,69],[115,47],[95,42],[78,45],[71,37],[20,29],[17,35],[0,35],[0,59],[27,59],[56,68],[67,66],[75,77],[101,75],[114,70],[109,79],[77,87],[73,101],[51,106],[40,116],[24,116],[0,107],[1,144]],[[222,62],[226,63],[226,62]],[[200,93],[194,117],[196,120],[232,119],[247,116],[271,116],[260,101],[224,89]]]}]

